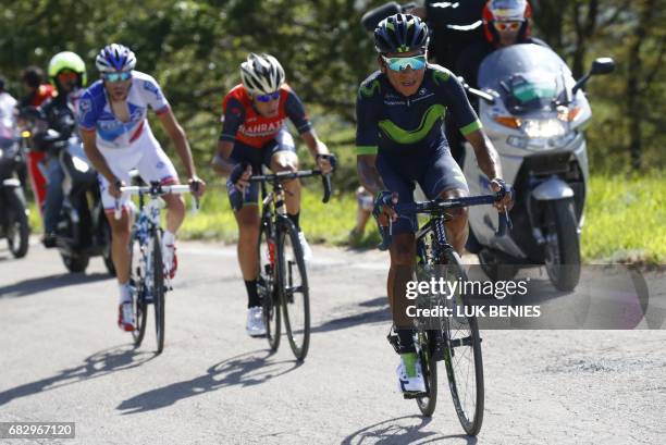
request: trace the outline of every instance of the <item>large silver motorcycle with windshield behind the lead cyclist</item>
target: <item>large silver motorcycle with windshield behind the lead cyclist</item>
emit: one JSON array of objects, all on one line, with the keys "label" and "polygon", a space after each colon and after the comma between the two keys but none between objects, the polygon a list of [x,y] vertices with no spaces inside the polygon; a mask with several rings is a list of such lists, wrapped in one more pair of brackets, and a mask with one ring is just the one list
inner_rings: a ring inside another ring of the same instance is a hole
[{"label": "large silver motorcycle with windshield behind the lead cyclist", "polygon": [[[593,75],[613,72],[596,59],[576,82],[551,49],[521,44],[489,54],[479,69],[479,118],[501,157],[504,178],[516,190],[514,230],[495,234],[497,212],[469,209],[467,249],[492,280],[510,280],[521,267],[545,264],[559,291],[580,280],[580,233],[589,178],[584,126],[592,118],[582,91]],[[473,149],[466,144],[464,172],[470,195],[490,190]]]}]

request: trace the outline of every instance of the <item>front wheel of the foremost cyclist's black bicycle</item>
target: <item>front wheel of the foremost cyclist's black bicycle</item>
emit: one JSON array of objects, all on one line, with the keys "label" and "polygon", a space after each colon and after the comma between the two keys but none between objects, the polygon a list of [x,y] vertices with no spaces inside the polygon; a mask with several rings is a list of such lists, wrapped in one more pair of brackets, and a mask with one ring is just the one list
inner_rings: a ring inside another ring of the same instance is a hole
[{"label": "front wheel of the foremost cyclist's black bicycle", "polygon": [[[465,283],[467,273],[460,265],[460,257],[453,249],[446,249],[440,259],[444,265],[446,281]],[[464,308],[467,297],[458,293],[445,304],[453,308]],[[448,387],[458,420],[465,432],[477,435],[483,422],[483,361],[481,358],[481,336],[474,317],[443,317],[441,319],[444,339],[444,364]]]}]

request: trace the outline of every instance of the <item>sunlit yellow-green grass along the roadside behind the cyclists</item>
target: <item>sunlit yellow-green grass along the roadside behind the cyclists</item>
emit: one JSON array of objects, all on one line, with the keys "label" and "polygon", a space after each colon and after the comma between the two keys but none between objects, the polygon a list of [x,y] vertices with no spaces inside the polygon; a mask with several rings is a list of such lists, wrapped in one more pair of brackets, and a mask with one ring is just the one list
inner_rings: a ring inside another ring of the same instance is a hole
[{"label": "sunlit yellow-green grass along the roadside behind the cyclists", "polygon": [[[324,205],[318,181],[308,181],[303,191],[300,224],[308,239],[347,245],[356,221],[354,194],[337,193]],[[585,206],[583,261],[666,264],[666,176],[663,172],[642,176],[594,175]],[[41,232],[41,220],[34,203],[30,224],[34,233]],[[200,211],[196,215],[188,212],[180,237],[226,243],[237,239],[236,223],[222,183],[215,181],[209,185]],[[374,222],[370,220],[366,235],[351,247],[373,248],[379,240]]]}]

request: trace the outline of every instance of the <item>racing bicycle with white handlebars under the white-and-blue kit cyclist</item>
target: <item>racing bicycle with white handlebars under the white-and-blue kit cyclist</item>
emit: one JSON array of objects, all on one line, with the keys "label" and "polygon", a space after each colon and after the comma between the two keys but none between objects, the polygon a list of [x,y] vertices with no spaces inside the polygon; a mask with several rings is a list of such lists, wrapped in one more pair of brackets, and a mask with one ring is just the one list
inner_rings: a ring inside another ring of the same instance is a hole
[{"label": "racing bicycle with white handlebars under the white-and-blue kit cyclist", "polygon": [[[134,346],[139,347],[146,334],[148,305],[155,307],[157,354],[164,349],[164,294],[171,291],[169,274],[162,258],[162,227],[160,225],[160,196],[192,191],[188,185],[161,185],[121,187],[122,193],[138,195],[138,213],[135,215],[130,237],[131,279],[134,309]],[[148,202],[146,202],[146,200]],[[193,199],[193,212],[199,202]],[[120,200],[115,200],[115,218],[121,215]]]}]

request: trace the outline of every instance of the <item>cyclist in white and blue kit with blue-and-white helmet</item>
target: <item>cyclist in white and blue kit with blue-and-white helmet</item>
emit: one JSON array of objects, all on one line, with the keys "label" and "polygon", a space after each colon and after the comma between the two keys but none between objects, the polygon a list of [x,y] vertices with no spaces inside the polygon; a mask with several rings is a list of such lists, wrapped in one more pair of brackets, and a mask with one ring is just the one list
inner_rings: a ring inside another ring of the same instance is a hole
[{"label": "cyclist in white and blue kit with blue-and-white helmet", "polygon": [[[206,184],[197,177],[185,132],[176,121],[158,83],[148,74],[134,71],[136,57],[127,47],[112,44],[96,60],[101,79],[95,82],[78,102],[79,128],[86,154],[99,172],[99,185],[107,219],[112,231],[113,264],[120,287],[118,324],[124,331],[134,325],[130,289],[131,218],[130,196],[120,188],[130,183],[130,171],[138,169],[146,182],[178,184],[173,163],[160,147],[146,120],[148,108],[158,115],[183,165],[193,191],[200,196]],[[115,200],[123,212],[114,218]],[[177,261],[175,233],[185,218],[178,195],[163,196],[166,202],[166,230],[162,237],[165,272],[173,277]]]}]

